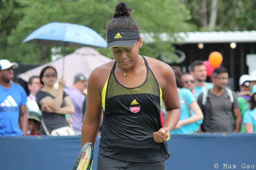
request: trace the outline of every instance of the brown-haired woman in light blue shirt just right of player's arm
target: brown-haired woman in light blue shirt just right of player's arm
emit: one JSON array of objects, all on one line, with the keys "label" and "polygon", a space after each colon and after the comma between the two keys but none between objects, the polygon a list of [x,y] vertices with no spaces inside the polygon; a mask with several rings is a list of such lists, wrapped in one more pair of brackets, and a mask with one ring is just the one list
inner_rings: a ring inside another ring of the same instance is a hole
[{"label": "brown-haired woman in light blue shirt just right of player's arm", "polygon": [[202,120],[204,116],[191,90],[184,88],[180,69],[176,66],[172,66],[172,69],[175,74],[181,105],[180,121],[172,134],[193,134],[196,131],[194,123]]}]

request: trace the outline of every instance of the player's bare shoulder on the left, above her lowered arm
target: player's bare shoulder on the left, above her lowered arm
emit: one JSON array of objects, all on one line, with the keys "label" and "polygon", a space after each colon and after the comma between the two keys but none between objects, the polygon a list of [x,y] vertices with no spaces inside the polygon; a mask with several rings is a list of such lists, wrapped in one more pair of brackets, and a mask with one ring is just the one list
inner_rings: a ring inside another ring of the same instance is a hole
[{"label": "player's bare shoulder on the left, above her lowered arm", "polygon": [[99,91],[102,91],[105,82],[107,81],[108,76],[110,75],[110,71],[115,63],[115,60],[107,62],[101,66],[96,67],[88,79],[88,83],[92,83],[93,86],[97,86]]}]

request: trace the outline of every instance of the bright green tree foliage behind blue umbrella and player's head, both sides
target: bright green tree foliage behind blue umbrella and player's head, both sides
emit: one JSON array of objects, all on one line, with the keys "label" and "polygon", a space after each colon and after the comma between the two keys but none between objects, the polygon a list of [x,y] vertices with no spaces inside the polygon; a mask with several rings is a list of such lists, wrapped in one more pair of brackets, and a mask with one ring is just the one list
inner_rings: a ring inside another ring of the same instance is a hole
[{"label": "bright green tree foliage behind blue umbrella and player's head, both sides", "polygon": [[[3,1],[3,0],[2,0]],[[1,1],[0,1],[1,2]],[[7,1],[6,1],[7,2]],[[5,4],[6,4],[5,2]],[[8,1],[9,2],[9,1]],[[50,48],[22,43],[24,38],[37,28],[51,22],[65,22],[86,25],[105,38],[105,25],[111,20],[115,5],[119,0],[13,0],[9,5],[10,14],[0,8],[0,16],[13,16],[13,22],[7,29],[7,23],[0,17],[0,30],[5,34],[5,44],[0,42],[2,55],[19,63],[41,63],[50,61]],[[190,19],[189,11],[178,0],[126,0],[133,10],[132,16],[138,22],[141,33],[151,33],[154,41],[144,41],[141,54],[157,58],[172,57],[170,41],[175,42],[174,33],[191,30],[186,20]],[[166,33],[167,41],[159,36]],[[8,43],[6,43],[8,42]],[[145,44],[146,43],[146,44]],[[67,48],[71,53],[75,48]],[[111,56],[110,51],[97,48],[103,55]]]}]

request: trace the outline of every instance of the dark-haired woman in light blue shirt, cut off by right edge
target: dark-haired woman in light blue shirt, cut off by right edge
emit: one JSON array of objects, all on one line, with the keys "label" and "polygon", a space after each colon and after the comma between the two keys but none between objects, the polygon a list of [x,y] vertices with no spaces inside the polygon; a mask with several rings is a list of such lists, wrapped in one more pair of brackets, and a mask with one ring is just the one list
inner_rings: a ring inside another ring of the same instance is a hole
[{"label": "dark-haired woman in light blue shirt, cut off by right edge", "polygon": [[250,109],[245,112],[243,117],[246,133],[256,133],[256,84],[253,86],[252,93]]}]

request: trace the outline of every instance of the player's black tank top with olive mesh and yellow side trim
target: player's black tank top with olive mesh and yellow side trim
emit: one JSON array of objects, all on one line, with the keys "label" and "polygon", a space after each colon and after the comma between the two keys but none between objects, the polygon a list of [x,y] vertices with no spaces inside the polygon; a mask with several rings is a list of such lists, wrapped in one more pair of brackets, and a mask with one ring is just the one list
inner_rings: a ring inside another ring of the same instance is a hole
[{"label": "player's black tank top with olive mesh and yellow side trim", "polygon": [[[143,57],[143,56],[142,56]],[[146,59],[146,80],[141,86],[127,88],[115,77],[115,66],[102,90],[104,117],[99,153],[130,162],[167,160],[166,142],[154,141],[153,132],[162,125],[162,90]]]}]

